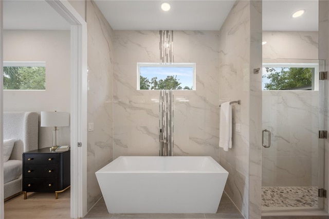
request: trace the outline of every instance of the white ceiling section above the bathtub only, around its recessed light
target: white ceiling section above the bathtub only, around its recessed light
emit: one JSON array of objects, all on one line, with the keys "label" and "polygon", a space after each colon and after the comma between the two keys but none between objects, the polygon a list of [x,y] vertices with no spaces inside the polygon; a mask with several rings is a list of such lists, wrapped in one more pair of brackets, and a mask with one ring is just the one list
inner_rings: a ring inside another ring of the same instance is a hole
[{"label": "white ceiling section above the bathtub only, around its recessed light", "polygon": [[114,30],[220,30],[235,1],[95,1]]}]

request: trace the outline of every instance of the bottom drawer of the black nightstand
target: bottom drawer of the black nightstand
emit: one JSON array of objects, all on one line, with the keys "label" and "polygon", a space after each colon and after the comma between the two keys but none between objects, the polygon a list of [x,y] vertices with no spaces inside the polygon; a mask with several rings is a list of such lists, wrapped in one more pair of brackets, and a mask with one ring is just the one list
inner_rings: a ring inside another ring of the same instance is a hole
[{"label": "bottom drawer of the black nightstand", "polygon": [[23,191],[26,192],[51,192],[58,190],[57,178],[25,178],[23,180]]}]

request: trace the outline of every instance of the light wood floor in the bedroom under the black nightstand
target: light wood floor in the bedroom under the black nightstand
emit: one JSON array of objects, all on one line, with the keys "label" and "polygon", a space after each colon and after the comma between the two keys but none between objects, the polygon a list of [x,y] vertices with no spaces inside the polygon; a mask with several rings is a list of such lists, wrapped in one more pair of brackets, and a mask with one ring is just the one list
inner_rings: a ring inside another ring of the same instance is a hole
[{"label": "light wood floor in the bedroom under the black nightstand", "polygon": [[27,199],[24,194],[16,196],[5,202],[5,218],[14,219],[46,219],[70,218],[70,190],[55,193],[28,192]]}]

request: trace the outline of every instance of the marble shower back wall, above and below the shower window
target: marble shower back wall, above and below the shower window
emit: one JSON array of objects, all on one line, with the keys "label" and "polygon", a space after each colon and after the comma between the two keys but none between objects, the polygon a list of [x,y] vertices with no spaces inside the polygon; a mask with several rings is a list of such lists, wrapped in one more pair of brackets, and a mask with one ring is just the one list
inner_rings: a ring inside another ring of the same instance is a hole
[{"label": "marble shower back wall, above and below the shower window", "polygon": [[[318,35],[264,31],[263,58],[316,60]],[[318,91],[263,91],[263,129],[269,129],[272,137],[271,147],[262,150],[262,186],[318,186],[318,95]]]}]

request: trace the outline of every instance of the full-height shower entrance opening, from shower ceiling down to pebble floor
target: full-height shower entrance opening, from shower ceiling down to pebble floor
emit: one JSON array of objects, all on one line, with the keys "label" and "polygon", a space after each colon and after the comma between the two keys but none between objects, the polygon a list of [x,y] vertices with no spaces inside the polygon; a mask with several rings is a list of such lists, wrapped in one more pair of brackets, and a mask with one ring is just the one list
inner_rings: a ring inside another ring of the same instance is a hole
[{"label": "full-height shower entrance opening, from shower ceiling down to pebble floor", "polygon": [[[280,16],[270,17],[278,8],[284,9]],[[297,9],[304,16],[295,17]],[[317,1],[263,2],[263,213],[323,209],[325,83],[319,72],[325,69],[318,59],[318,11]]]}]

